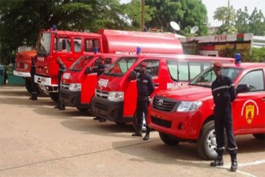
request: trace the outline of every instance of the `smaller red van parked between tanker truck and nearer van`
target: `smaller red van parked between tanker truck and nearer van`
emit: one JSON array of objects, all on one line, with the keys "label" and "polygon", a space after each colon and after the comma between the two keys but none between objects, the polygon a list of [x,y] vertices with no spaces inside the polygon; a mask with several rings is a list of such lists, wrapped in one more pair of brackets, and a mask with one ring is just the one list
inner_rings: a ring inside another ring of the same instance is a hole
[{"label": "smaller red van parked between tanker truck and nearer van", "polygon": [[66,106],[76,107],[81,112],[92,110],[90,103],[95,95],[99,59],[105,60],[105,64],[111,64],[120,56],[122,55],[111,53],[81,56],[62,75],[60,101]]}]

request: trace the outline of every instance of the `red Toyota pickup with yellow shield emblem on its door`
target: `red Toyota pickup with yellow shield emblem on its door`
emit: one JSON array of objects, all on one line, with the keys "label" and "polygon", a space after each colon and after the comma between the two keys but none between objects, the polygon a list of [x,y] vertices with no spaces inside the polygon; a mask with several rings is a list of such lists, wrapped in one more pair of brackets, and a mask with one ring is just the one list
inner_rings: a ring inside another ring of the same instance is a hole
[{"label": "red Toyota pickup with yellow shield emblem on its door", "polygon": [[[235,135],[264,139],[265,63],[224,64],[223,75],[229,76],[236,88],[237,98],[232,102]],[[211,92],[215,79],[213,67],[209,67],[187,86],[153,96],[148,125],[159,132],[165,144],[194,142],[203,159],[217,157]]]}]

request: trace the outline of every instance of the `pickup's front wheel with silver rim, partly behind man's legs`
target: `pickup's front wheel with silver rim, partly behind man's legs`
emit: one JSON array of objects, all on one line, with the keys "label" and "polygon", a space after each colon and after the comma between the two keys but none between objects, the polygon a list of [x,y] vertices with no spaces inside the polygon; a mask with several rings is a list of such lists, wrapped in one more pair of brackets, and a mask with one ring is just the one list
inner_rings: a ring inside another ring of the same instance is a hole
[{"label": "pickup's front wheel with silver rim, partly behind man's legs", "polygon": [[[225,137],[225,148],[227,145],[227,137]],[[197,150],[199,155],[204,160],[215,160],[217,158],[216,153],[216,137],[215,137],[215,130],[214,130],[214,121],[207,122],[203,125],[201,129],[200,136],[197,140]]]}]

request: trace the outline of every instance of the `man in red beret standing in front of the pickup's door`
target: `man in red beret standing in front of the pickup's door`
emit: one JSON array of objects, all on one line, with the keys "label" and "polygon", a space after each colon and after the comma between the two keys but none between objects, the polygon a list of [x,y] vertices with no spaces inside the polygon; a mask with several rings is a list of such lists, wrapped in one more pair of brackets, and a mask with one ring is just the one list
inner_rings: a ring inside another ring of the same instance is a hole
[{"label": "man in red beret standing in front of the pickup's door", "polygon": [[221,62],[213,63],[213,71],[216,75],[216,80],[213,81],[211,89],[214,100],[214,129],[216,135],[218,157],[211,166],[223,165],[223,153],[225,151],[224,128],[226,130],[228,150],[231,156],[231,171],[237,170],[237,145],[233,133],[233,120],[231,102],[236,99],[236,91],[233,81],[222,75],[223,65]]}]

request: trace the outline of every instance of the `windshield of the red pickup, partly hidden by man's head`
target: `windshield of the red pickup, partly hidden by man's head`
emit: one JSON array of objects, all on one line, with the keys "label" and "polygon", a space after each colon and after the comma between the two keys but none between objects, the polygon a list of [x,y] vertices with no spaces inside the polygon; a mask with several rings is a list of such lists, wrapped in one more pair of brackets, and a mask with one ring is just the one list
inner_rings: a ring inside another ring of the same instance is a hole
[{"label": "windshield of the red pickup, partly hidden by man's head", "polygon": [[[222,75],[228,76],[231,78],[231,80],[234,82],[235,78],[238,76],[238,74],[242,71],[242,68],[223,68]],[[196,86],[202,86],[202,87],[211,87],[212,82],[216,79],[216,76],[213,71],[213,67],[209,67],[203,72],[201,72],[199,75],[197,75],[190,83],[189,85],[196,85]]]}]

